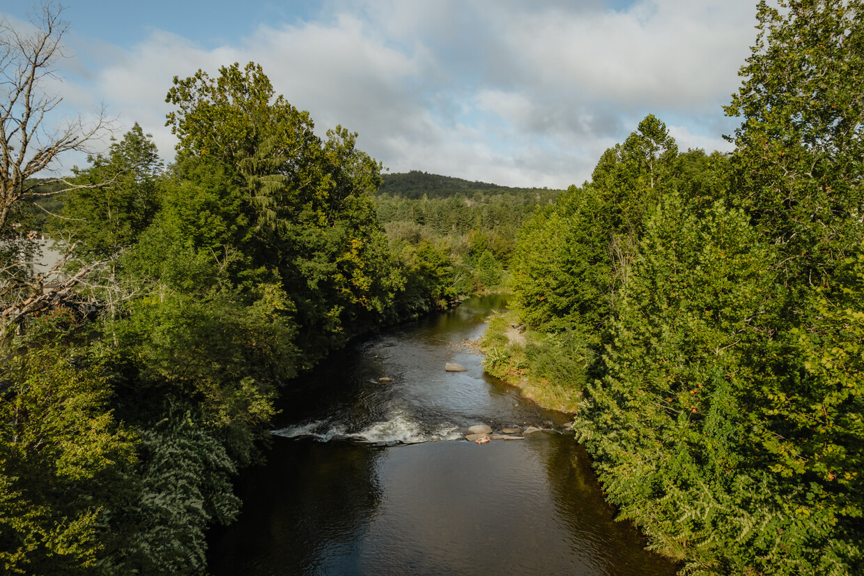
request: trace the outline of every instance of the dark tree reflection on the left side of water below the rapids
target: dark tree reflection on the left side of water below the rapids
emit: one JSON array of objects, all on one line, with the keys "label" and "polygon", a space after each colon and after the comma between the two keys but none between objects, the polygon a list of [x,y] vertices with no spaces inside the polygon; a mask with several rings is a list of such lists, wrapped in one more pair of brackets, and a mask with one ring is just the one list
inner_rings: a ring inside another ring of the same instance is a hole
[{"label": "dark tree reflection on the left side of water below the rapids", "polygon": [[243,479],[243,513],[211,541],[215,574],[359,573],[352,567],[382,490],[366,445],[276,443]]}]

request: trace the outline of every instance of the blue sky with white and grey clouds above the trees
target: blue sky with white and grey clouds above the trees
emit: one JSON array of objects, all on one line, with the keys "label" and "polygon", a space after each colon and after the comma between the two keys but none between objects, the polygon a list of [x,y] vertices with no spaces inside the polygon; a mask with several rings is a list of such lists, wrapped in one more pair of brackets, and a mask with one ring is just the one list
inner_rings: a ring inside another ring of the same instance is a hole
[{"label": "blue sky with white and grey clouds above the trees", "polygon": [[[67,0],[66,112],[104,103],[170,160],[175,76],[256,61],[276,93],[391,171],[510,186],[588,179],[654,113],[680,149],[729,150],[721,106],[755,0]],[[29,0],[0,0],[26,26]]]}]

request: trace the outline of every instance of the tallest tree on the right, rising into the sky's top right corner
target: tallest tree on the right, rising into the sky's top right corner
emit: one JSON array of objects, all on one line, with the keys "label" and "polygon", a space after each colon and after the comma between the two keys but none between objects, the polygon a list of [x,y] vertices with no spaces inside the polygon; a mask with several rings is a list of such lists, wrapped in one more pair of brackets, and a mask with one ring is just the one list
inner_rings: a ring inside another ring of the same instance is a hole
[{"label": "tallest tree on the right, rising into the sky's top right corner", "polygon": [[735,202],[818,284],[861,237],[864,3],[759,3],[759,35],[727,115],[743,117]]}]

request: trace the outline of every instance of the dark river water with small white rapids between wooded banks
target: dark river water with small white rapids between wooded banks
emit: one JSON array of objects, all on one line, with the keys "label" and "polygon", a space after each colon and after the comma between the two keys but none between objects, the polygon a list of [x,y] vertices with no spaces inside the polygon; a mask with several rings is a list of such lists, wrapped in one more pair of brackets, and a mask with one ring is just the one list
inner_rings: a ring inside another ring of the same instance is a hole
[{"label": "dark river water with small white rapids between wooded banks", "polygon": [[[566,415],[483,374],[459,345],[502,304],[474,298],[386,330],[284,390],[268,464],[241,478],[238,522],[212,534],[211,572],[675,573],[613,521]],[[457,439],[474,424],[548,430]]]}]

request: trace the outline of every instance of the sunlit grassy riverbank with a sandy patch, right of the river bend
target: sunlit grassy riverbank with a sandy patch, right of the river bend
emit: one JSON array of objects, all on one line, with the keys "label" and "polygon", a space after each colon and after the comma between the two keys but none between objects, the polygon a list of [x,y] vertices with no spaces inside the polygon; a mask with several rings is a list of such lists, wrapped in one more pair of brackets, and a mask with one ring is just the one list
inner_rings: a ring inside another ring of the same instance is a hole
[{"label": "sunlit grassy riverbank with a sandy patch, right of the river bend", "polygon": [[495,311],[480,338],[483,369],[543,408],[576,413],[587,355],[571,335],[525,330],[512,310]]}]

